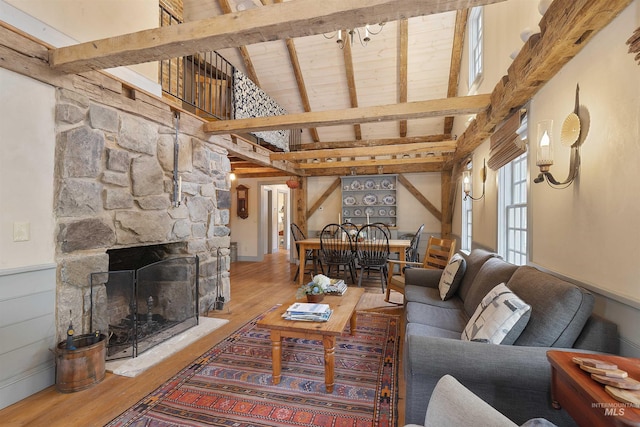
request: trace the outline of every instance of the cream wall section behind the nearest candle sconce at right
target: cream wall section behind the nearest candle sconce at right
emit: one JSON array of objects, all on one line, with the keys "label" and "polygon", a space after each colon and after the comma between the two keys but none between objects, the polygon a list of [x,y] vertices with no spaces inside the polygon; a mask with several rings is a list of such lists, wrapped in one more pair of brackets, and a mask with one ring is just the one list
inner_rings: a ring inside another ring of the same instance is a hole
[{"label": "cream wall section behind the nearest candle sconce at right", "polygon": [[[565,190],[531,184],[531,261],[610,297],[596,310],[618,323],[640,350],[640,67],[625,41],[640,26],[635,1],[536,95],[530,124],[553,119],[559,141],[580,85],[580,175]],[[533,132],[532,132],[533,131]],[[534,126],[529,138],[535,141]],[[551,172],[568,174],[569,148],[556,143]],[[535,155],[531,174],[537,174]],[[629,350],[631,351],[631,350]]]}]

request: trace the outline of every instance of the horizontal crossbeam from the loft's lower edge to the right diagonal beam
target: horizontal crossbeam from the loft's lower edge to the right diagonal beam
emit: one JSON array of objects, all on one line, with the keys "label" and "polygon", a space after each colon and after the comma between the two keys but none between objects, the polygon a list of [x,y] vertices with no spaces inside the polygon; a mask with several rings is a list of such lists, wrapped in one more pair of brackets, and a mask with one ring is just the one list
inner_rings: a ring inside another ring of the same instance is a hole
[{"label": "horizontal crossbeam from the loft's lower edge to the right diagonal beam", "polygon": [[257,132],[263,130],[297,129],[314,126],[335,126],[400,119],[419,119],[449,115],[476,114],[489,106],[488,95],[432,99],[406,104],[378,105],[346,110],[316,111],[283,116],[255,117],[208,122],[203,130],[211,134]]}]

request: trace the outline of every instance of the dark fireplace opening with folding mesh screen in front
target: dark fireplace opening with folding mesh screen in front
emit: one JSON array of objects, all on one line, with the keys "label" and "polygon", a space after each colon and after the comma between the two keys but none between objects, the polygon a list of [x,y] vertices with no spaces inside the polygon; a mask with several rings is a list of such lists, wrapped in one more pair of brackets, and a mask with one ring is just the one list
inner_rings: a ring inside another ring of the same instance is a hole
[{"label": "dark fireplace opening with folding mesh screen in front", "polygon": [[197,256],[174,244],[108,250],[91,274],[91,325],[107,331],[107,360],[136,357],[198,324]]}]

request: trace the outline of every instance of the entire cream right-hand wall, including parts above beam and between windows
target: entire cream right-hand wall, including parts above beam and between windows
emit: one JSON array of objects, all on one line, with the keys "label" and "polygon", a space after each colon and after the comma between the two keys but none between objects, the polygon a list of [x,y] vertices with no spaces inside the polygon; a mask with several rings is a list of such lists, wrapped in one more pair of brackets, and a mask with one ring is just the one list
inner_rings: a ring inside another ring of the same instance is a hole
[{"label": "entire cream right-hand wall, including parts above beam and between windows", "polygon": [[[509,1],[485,7],[485,78],[480,93],[490,92],[506,74],[509,54],[522,45],[520,32],[539,20],[538,2]],[[512,9],[512,13],[507,13]],[[522,16],[521,16],[522,13]],[[640,26],[640,2],[634,1],[601,30],[533,98],[529,111],[529,140],[535,144],[536,125],[554,120],[559,141],[562,121],[574,109],[580,85],[581,118],[585,141],[580,149],[578,179],[564,190],[534,184],[535,145],[529,148],[530,261],[533,265],[583,285],[594,292],[594,311],[620,328],[622,353],[640,355],[640,68],[627,52],[625,41]],[[507,63],[505,63],[505,61]],[[463,61],[466,70],[466,53]],[[495,66],[500,64],[500,66]],[[462,74],[460,93],[466,93]],[[455,132],[464,131],[457,121]],[[569,148],[555,146],[551,172],[563,181],[568,175]],[[473,154],[474,192],[481,191],[480,168],[489,157],[489,142]],[[473,203],[474,245],[497,248],[496,173],[489,170],[487,195]],[[460,202],[456,201],[459,212]],[[461,219],[453,224],[460,234]]]}]

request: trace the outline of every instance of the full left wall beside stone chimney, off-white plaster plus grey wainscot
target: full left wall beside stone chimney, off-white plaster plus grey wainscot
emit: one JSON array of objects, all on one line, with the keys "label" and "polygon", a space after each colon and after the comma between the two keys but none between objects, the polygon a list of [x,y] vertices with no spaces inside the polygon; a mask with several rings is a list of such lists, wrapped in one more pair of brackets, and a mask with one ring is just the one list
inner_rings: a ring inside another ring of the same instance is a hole
[{"label": "full left wall beside stone chimney, off-white plaster plus grey wainscot", "polygon": [[51,86],[0,68],[0,408],[54,383],[54,105]]}]

